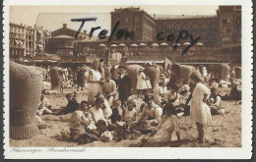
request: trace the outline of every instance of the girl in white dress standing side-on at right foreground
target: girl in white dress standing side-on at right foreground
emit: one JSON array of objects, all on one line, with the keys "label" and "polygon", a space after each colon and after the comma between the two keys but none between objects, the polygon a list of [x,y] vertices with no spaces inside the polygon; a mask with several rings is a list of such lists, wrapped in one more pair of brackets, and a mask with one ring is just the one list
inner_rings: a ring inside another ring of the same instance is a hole
[{"label": "girl in white dress standing side-on at right foreground", "polygon": [[204,84],[199,71],[190,74],[190,83],[195,85],[190,101],[190,118],[197,125],[199,142],[204,142],[205,127],[212,123],[211,111],[206,103],[210,96],[210,89]]}]

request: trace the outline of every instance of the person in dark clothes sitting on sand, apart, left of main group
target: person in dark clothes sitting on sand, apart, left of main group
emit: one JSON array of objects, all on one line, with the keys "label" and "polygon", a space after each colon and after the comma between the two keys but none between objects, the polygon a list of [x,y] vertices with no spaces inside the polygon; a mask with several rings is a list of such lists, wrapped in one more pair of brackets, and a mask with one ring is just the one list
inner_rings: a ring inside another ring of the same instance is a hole
[{"label": "person in dark clothes sitting on sand, apart, left of main group", "polygon": [[68,100],[68,104],[66,107],[63,107],[63,110],[56,113],[56,115],[66,115],[69,113],[73,113],[79,108],[79,103],[77,101],[76,95],[73,96],[72,93],[68,93],[65,95]]}]

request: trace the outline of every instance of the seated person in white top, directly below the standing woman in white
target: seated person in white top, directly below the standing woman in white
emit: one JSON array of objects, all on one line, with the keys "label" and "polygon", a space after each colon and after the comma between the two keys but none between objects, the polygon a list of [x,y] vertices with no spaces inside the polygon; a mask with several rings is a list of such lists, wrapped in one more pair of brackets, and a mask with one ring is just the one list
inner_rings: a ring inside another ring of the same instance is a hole
[{"label": "seated person in white top, directly below the standing woman in white", "polygon": [[103,114],[102,107],[104,106],[104,97],[102,94],[96,95],[95,107],[92,107],[89,110],[89,113],[92,115],[93,120],[97,123],[99,120],[106,122],[106,119]]}]

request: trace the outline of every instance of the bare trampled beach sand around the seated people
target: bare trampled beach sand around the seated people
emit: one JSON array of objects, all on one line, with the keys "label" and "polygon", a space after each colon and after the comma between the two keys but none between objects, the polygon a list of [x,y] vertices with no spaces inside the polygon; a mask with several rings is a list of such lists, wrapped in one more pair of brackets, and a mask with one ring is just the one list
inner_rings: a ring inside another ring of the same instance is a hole
[{"label": "bare trampled beach sand around the seated people", "polygon": [[[75,91],[75,89],[65,89],[64,93]],[[86,90],[80,91],[78,101],[87,100]],[[53,108],[65,106],[67,100],[64,93],[46,95]],[[137,101],[137,108],[142,103],[142,99]],[[178,119],[181,142],[176,140],[176,135],[172,135],[173,141],[164,144],[154,144],[146,146],[170,146],[170,147],[241,147],[241,105],[237,101],[222,101],[224,115],[213,116],[213,125],[206,127],[207,141],[198,143],[196,125],[191,123],[189,117]],[[48,126],[47,129],[41,129],[41,135],[33,136],[30,139],[14,140],[10,139],[10,146],[19,147],[138,147],[141,146],[142,135],[134,140],[101,142],[78,145],[75,142],[65,141],[61,138],[62,131],[69,132],[69,118],[71,114],[55,116],[41,115],[41,119]]]}]

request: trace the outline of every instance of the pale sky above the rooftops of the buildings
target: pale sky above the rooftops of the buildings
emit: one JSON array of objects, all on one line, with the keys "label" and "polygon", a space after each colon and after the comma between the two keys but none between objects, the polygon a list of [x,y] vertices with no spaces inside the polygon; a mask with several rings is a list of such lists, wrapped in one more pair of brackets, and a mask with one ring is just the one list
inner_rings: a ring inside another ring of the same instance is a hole
[{"label": "pale sky above the rooftops of the buildings", "polygon": [[[92,27],[110,30],[110,13],[114,8],[131,6],[11,6],[10,23],[23,24],[26,26],[42,26],[43,29],[53,31],[67,24],[67,27],[77,30],[81,23],[71,22],[71,19],[96,18],[96,22],[86,22],[82,30],[88,32]],[[216,15],[218,6],[133,6],[140,7],[150,15]],[[96,30],[97,34],[100,30]]]}]

